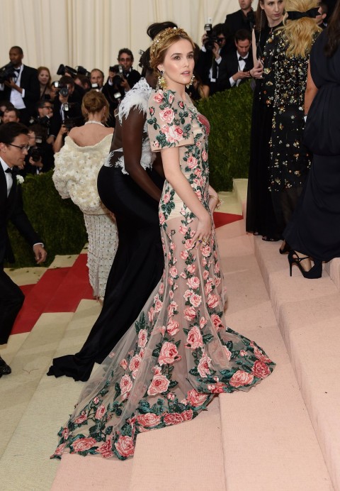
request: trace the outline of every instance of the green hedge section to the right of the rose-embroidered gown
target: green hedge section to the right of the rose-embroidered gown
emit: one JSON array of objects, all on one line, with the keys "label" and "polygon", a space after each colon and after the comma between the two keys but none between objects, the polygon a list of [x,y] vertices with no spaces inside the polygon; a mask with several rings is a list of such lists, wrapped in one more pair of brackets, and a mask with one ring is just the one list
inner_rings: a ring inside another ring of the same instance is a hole
[{"label": "green hedge section to the right of the rose-embroidered gown", "polygon": [[230,191],[234,178],[248,177],[252,94],[245,82],[198,101],[210,122],[210,184],[216,191]]}]

